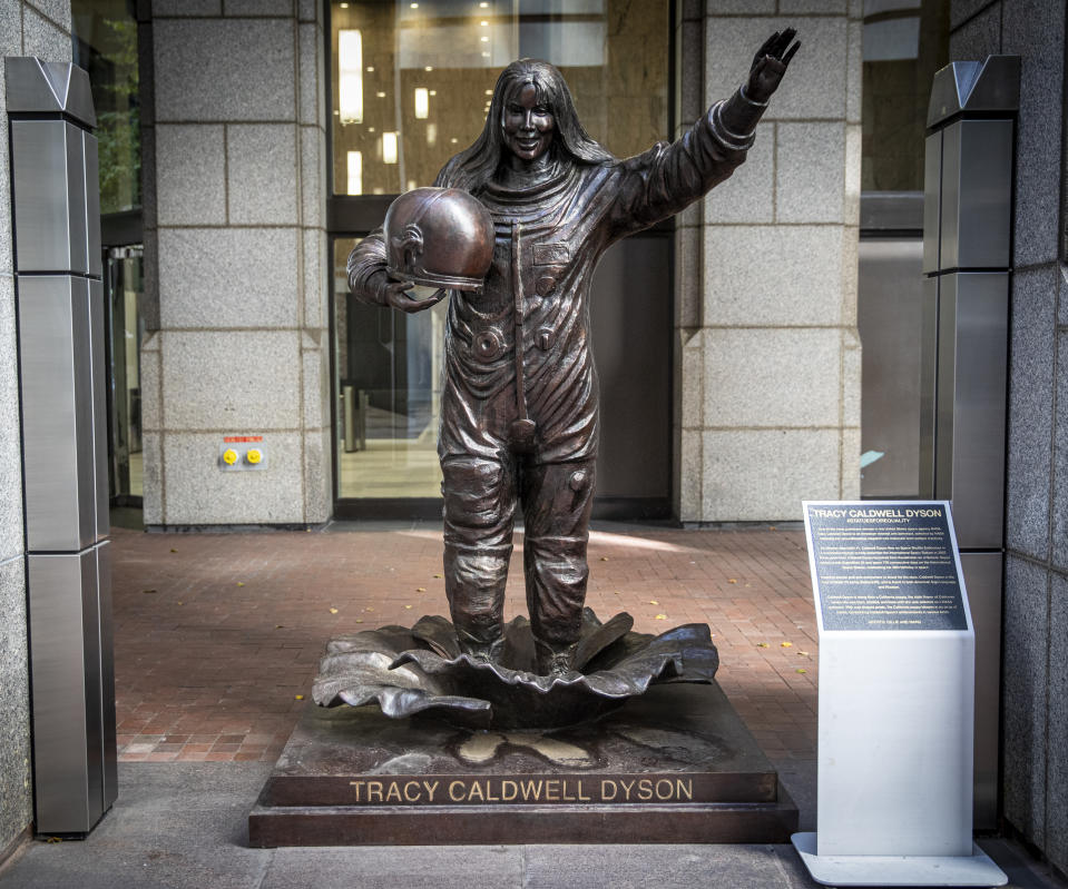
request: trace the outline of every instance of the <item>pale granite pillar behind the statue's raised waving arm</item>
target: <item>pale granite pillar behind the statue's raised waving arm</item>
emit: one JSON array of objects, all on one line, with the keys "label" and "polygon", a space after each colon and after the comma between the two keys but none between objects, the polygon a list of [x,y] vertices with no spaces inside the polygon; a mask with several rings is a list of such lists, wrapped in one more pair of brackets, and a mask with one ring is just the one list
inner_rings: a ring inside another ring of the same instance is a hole
[{"label": "pale granite pillar behind the statue's raised waving arm", "polygon": [[859,0],[684,0],[688,127],[776,30],[801,51],[745,165],[679,217],[675,505],[686,523],[801,518],[860,493]]}]

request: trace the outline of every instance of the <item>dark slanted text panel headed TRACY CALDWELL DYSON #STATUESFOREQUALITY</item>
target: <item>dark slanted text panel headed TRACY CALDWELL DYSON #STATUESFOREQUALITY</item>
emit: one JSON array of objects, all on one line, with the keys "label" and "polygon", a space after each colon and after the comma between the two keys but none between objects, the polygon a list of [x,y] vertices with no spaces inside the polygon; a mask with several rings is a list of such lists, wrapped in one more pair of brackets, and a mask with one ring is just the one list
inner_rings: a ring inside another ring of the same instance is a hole
[{"label": "dark slanted text panel headed TRACY CALDWELL DYSON #STATUESFOREQUALITY", "polygon": [[806,503],[823,630],[967,630],[944,503]]}]

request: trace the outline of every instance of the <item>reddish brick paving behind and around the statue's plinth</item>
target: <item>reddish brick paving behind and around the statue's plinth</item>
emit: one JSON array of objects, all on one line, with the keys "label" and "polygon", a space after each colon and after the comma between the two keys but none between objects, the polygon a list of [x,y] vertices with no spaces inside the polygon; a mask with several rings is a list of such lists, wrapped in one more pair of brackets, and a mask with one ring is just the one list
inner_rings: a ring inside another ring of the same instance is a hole
[{"label": "reddish brick paving behind and around the statue's plinth", "polygon": [[[336,527],[336,526],[335,526]],[[816,633],[801,531],[599,525],[587,604],[711,625],[719,684],[776,763],[813,760]],[[441,532],[144,534],[117,527],[119,758],[274,761],[329,638],[447,613]],[[506,616],[523,610],[517,535]]]}]

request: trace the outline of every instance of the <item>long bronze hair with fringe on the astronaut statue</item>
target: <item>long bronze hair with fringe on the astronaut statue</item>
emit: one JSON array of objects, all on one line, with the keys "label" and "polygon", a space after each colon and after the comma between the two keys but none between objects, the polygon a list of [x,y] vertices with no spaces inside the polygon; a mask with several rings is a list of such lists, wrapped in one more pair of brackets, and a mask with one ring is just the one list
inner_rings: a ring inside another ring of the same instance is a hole
[{"label": "long bronze hair with fringe on the astronaut statue", "polygon": [[501,134],[504,103],[523,83],[533,83],[535,89],[538,90],[538,101],[552,112],[556,136],[551,150],[556,160],[590,165],[610,164],[616,160],[611,152],[586,132],[586,128],[578,119],[571,91],[564,75],[547,61],[519,59],[509,65],[497,78],[490,110],[486,116],[486,126],[481,135],[470,148],[455,155],[445,164],[434,180],[435,186],[462,188],[472,195],[478,195],[493,177],[504,151]]}]

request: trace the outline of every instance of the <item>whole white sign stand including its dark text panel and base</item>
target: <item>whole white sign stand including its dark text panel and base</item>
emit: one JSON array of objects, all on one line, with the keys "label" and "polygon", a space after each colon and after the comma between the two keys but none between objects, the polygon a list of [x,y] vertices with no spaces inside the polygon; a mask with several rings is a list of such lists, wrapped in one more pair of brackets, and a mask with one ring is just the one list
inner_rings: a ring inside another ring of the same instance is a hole
[{"label": "whole white sign stand including its dark text panel and base", "polygon": [[949,504],[805,503],[805,530],[819,812],[793,843],[809,872],[827,886],[1003,886],[972,842],[976,636]]}]

